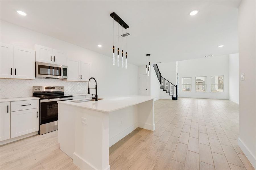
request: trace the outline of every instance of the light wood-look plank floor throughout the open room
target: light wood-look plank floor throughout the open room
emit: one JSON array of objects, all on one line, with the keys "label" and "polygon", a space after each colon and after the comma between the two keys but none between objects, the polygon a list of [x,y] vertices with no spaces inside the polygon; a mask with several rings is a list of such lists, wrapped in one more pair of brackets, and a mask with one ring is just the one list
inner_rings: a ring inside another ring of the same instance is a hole
[{"label": "light wood-look plank floor throughout the open room", "polygon": [[[137,128],[109,149],[111,170],[254,170],[237,144],[239,105],[229,100],[155,101],[154,132]],[[0,169],[79,169],[57,131],[0,147]]]}]

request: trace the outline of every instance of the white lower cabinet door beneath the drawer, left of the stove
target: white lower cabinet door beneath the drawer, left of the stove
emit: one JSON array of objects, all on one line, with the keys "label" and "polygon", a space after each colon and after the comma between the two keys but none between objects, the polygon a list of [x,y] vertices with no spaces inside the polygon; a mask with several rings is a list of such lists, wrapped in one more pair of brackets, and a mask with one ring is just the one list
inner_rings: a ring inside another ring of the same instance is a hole
[{"label": "white lower cabinet door beneath the drawer, left of the stove", "polygon": [[39,108],[11,112],[11,138],[39,130]]}]

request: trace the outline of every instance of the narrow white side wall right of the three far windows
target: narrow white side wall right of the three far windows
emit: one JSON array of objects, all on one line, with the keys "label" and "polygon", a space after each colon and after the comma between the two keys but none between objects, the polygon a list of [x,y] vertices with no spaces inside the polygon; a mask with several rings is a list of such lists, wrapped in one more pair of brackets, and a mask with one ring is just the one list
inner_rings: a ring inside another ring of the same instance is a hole
[{"label": "narrow white side wall right of the three far windows", "polygon": [[229,55],[229,99],[239,104],[239,57]]}]

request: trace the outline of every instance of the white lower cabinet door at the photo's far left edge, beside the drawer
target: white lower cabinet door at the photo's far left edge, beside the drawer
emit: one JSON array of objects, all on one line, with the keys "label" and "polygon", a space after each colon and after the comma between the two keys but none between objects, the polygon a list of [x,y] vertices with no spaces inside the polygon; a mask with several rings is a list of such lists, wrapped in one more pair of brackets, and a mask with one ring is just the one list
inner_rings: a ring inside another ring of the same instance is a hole
[{"label": "white lower cabinet door at the photo's far left edge, beside the drawer", "polygon": [[10,102],[0,103],[0,141],[10,139]]}]

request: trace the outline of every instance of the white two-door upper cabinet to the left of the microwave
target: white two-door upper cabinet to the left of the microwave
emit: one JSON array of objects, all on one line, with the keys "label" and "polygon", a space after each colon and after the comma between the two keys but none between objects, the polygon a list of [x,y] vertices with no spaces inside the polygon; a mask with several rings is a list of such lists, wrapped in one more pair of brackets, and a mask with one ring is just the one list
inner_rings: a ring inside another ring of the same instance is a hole
[{"label": "white two-door upper cabinet to the left of the microwave", "polygon": [[35,79],[35,50],[1,43],[0,78]]}]

